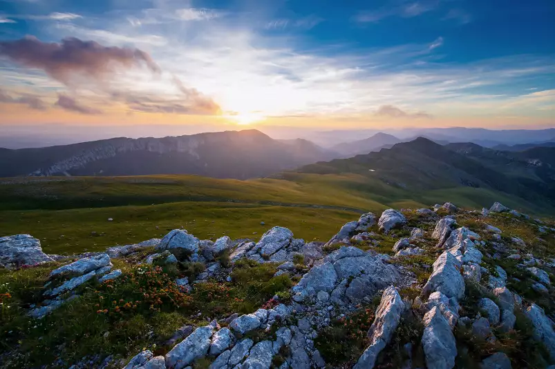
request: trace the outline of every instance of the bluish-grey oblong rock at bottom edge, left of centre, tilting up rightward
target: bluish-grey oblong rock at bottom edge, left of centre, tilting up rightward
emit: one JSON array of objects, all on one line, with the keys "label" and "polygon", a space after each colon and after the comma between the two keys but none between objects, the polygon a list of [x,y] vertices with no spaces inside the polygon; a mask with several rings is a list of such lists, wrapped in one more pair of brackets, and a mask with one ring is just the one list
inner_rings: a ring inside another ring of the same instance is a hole
[{"label": "bluish-grey oblong rock at bottom edge, left of centre, tilting up rightward", "polygon": [[197,328],[166,354],[166,366],[172,369],[183,369],[196,359],[205,357],[213,333],[214,327],[212,326]]}]

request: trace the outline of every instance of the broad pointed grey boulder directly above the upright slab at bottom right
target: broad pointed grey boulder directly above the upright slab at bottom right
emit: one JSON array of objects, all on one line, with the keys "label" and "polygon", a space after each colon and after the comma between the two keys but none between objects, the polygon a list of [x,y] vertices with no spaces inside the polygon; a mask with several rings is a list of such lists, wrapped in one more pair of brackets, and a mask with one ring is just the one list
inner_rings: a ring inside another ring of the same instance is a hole
[{"label": "broad pointed grey boulder directly above the upright slab at bottom right", "polygon": [[433,272],[422,289],[424,294],[439,291],[446,297],[462,298],[464,279],[459,271],[460,263],[448,251],[444,251],[433,263]]}]

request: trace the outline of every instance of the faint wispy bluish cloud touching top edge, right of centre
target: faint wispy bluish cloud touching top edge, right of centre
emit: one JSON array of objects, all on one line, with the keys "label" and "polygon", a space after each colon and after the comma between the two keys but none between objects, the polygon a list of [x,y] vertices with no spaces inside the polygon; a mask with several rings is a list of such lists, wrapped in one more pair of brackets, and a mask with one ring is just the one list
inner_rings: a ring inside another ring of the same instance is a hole
[{"label": "faint wispy bluish cloud touching top edge, right of centre", "polygon": [[388,17],[412,18],[438,8],[439,0],[404,2],[399,6],[383,6],[377,10],[364,10],[352,19],[358,23],[375,23]]}]

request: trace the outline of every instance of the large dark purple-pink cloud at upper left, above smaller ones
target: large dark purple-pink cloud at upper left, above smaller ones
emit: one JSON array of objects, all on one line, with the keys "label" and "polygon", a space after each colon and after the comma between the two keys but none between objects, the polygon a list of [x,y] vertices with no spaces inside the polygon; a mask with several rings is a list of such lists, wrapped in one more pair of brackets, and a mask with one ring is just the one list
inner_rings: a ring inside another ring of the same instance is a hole
[{"label": "large dark purple-pink cloud at upper left, above smaller ones", "polygon": [[27,68],[44,70],[46,74],[66,85],[75,77],[105,81],[118,67],[146,65],[151,72],[160,72],[147,52],[136,48],[106,47],[95,41],[75,37],[62,43],[45,43],[35,37],[15,41],[0,41],[0,56]]}]

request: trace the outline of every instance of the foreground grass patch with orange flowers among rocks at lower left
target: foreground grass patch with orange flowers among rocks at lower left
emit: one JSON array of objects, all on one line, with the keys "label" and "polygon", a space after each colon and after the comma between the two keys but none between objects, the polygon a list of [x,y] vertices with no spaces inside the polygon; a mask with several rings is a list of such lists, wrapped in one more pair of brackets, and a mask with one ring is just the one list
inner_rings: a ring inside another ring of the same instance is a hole
[{"label": "foreground grass patch with orange flowers among rocks at lower left", "polygon": [[26,310],[40,301],[48,273],[59,263],[0,270],[0,342],[11,352],[3,368],[32,368],[57,359],[73,363],[97,353],[126,358],[143,348],[164,355],[169,350],[164,342],[185,323],[200,326],[233,312],[253,312],[292,286],[287,275],[273,277],[272,263],[241,261],[231,283],[196,283],[189,295],[174,283],[185,270],[115,264],[122,277],[86,283],[77,291],[80,297],[44,319],[30,319]]}]

